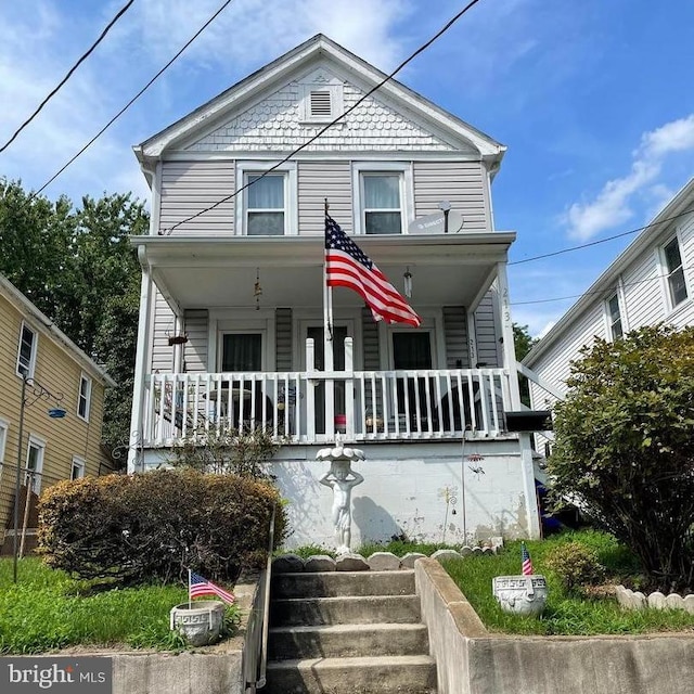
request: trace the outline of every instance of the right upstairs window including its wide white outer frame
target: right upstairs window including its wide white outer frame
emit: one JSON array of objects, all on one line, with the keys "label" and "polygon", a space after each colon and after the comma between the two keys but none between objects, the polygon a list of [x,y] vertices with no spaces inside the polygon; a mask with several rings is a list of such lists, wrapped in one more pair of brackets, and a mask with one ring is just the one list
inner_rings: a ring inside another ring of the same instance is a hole
[{"label": "right upstairs window including its wide white outer frame", "polygon": [[357,163],[354,167],[356,231],[362,234],[401,234],[410,209],[412,176],[399,163]]}]

